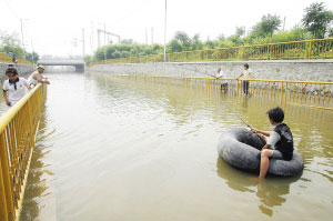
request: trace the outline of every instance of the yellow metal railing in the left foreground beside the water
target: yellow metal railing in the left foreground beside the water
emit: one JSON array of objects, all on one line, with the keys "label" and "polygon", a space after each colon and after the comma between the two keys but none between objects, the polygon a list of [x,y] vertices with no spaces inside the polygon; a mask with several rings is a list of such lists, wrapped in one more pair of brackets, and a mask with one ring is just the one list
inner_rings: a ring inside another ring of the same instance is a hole
[{"label": "yellow metal railing in the left foreground beside the water", "polygon": [[38,84],[0,118],[1,221],[18,220],[46,97]]}]

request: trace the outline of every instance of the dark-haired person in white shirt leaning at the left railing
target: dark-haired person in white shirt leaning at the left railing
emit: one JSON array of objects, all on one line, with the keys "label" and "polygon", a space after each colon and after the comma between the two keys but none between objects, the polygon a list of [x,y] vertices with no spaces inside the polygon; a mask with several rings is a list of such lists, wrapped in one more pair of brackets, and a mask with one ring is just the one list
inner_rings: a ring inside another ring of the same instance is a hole
[{"label": "dark-haired person in white shirt leaning at the left railing", "polygon": [[3,82],[2,96],[7,106],[12,107],[24,97],[27,92],[26,88],[31,89],[31,87],[24,78],[19,78],[16,68],[7,68],[6,76],[8,80]]}]

